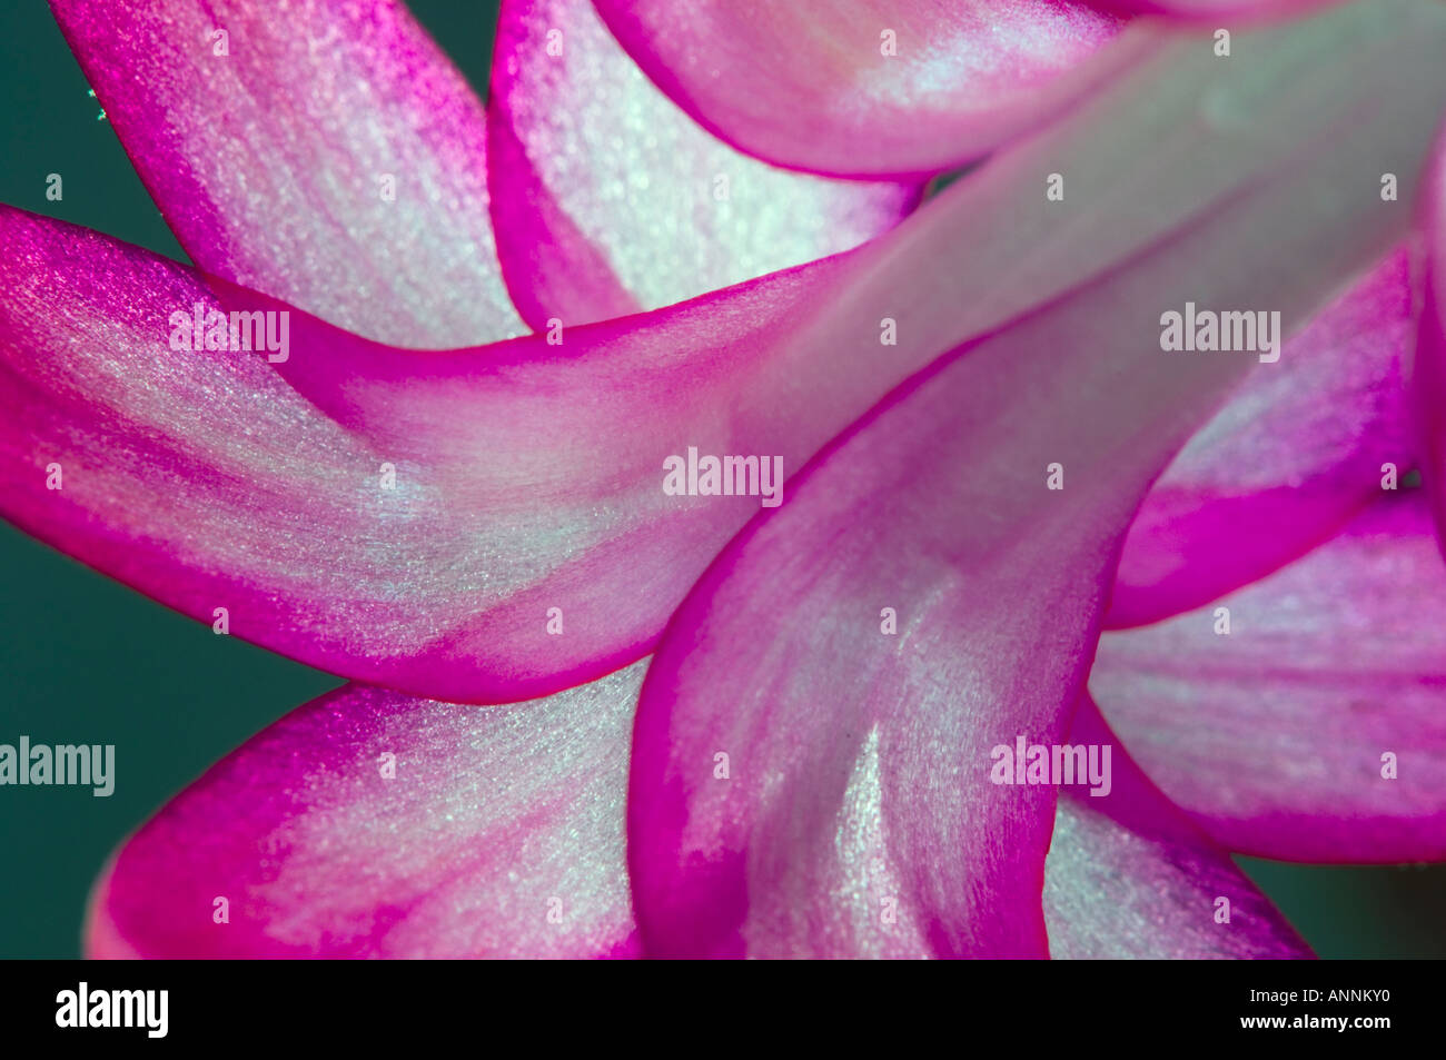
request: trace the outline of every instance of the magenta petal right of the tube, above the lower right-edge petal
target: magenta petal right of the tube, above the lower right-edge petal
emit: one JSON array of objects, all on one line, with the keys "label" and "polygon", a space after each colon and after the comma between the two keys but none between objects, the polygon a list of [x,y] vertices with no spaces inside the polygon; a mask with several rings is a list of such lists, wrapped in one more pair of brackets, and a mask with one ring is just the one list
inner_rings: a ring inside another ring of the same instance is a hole
[{"label": "magenta petal right of the tube, above the lower right-edge petal", "polygon": [[1416,461],[1401,364],[1407,252],[1392,252],[1261,364],[1145,496],[1106,625],[1199,607],[1329,538]]}]

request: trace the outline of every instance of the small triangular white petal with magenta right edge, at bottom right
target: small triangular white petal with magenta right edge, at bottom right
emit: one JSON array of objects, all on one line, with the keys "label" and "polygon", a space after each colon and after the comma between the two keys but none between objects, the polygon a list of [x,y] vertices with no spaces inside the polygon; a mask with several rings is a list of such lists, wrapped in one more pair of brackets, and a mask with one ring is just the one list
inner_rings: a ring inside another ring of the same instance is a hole
[{"label": "small triangular white petal with magenta right edge, at bottom right", "polygon": [[1313,956],[1231,856],[1139,771],[1087,696],[1070,743],[1111,748],[1109,759],[1099,752],[1109,784],[1060,795],[1044,866],[1051,957]]}]

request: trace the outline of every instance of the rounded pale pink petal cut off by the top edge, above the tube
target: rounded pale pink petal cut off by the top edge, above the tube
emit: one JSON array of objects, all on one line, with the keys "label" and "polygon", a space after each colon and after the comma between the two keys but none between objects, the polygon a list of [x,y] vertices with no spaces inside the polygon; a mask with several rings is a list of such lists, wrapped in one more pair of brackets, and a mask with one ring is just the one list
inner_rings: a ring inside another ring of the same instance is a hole
[{"label": "rounded pale pink petal cut off by the top edge, above the tube", "polygon": [[947,14],[931,0],[596,4],[700,124],[821,174],[908,176],[976,159],[1142,55],[1128,43],[1096,55],[1119,19],[1066,0],[957,0]]}]

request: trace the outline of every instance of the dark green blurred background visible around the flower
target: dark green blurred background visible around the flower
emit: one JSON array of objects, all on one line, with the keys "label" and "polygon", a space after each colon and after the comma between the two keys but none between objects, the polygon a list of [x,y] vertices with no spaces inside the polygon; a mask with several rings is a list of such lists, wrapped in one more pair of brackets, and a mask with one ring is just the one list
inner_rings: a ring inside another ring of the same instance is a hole
[{"label": "dark green blurred background visible around the flower", "polygon": [[[412,9],[486,93],[496,4]],[[0,201],[187,260],[87,93],[45,4],[0,1]],[[51,172],[65,179],[61,202],[45,198]],[[110,798],[0,788],[0,956],[69,957],[91,879],[126,833],[340,680],[215,636],[6,523],[0,578],[0,742],[116,745]],[[1242,863],[1325,957],[1446,956],[1446,866]]]}]

